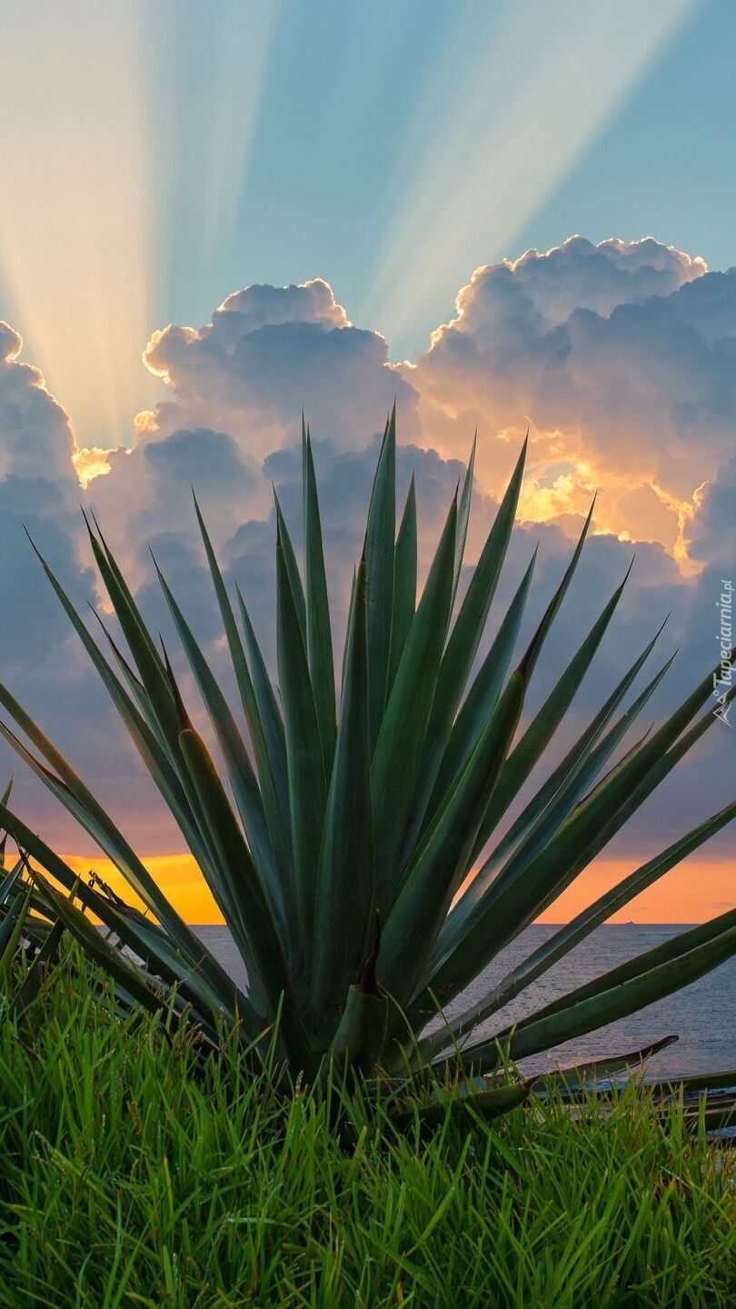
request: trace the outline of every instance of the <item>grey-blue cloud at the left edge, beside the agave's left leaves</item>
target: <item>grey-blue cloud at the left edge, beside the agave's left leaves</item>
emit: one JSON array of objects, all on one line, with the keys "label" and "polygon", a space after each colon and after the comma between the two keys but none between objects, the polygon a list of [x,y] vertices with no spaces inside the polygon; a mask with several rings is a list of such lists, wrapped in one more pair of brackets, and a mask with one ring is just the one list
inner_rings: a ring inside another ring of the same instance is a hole
[{"label": "grey-blue cloud at the left edge, beside the agave's left leaves", "polygon": [[[89,677],[85,656],[24,530],[80,609],[94,602],[94,575],[80,554],[73,437],[39,370],[20,361],[21,346],[17,332],[0,325],[0,678],[75,766],[96,779],[114,808],[130,801],[135,763],[127,742],[113,736],[105,691]],[[18,767],[3,741],[3,787],[13,768],[14,802],[21,812],[62,848],[79,842],[72,822],[28,770]]]}]

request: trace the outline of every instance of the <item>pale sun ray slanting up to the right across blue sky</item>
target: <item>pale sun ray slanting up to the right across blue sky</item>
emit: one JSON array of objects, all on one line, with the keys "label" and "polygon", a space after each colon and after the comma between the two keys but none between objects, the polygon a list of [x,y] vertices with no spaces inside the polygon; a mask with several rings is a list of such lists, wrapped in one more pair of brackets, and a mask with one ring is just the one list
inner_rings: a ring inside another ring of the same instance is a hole
[{"label": "pale sun ray slanting up to the right across blue sky", "polygon": [[529,0],[504,25],[494,7],[479,21],[474,10],[473,42],[444,52],[452,98],[430,84],[407,134],[407,199],[360,321],[378,322],[394,348],[428,331],[441,289],[513,249],[698,3]]}]

